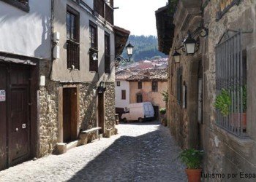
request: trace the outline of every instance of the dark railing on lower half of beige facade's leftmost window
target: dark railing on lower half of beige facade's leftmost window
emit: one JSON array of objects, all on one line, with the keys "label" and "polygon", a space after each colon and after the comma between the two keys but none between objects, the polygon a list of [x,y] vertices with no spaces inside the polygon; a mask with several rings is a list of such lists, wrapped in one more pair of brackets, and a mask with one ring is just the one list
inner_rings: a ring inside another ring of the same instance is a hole
[{"label": "dark railing on lower half of beige facade's leftmost window", "polygon": [[67,40],[67,68],[80,68],[79,43]]}]

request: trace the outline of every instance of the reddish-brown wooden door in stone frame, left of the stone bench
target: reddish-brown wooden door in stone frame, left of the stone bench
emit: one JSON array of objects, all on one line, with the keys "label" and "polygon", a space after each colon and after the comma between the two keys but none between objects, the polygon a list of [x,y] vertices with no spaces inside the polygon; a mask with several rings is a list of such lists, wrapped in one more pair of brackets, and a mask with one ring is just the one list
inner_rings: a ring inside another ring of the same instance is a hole
[{"label": "reddish-brown wooden door in stone frame, left of the stone bench", "polygon": [[78,138],[78,98],[76,88],[63,89],[63,141]]}]

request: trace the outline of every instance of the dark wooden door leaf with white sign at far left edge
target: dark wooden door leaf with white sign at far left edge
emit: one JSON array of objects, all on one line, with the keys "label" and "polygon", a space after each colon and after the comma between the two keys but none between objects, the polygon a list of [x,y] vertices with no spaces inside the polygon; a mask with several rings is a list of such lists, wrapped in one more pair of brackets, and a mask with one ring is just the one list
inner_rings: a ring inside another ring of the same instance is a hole
[{"label": "dark wooden door leaf with white sign at far left edge", "polygon": [[7,167],[7,67],[0,65],[0,170]]}]

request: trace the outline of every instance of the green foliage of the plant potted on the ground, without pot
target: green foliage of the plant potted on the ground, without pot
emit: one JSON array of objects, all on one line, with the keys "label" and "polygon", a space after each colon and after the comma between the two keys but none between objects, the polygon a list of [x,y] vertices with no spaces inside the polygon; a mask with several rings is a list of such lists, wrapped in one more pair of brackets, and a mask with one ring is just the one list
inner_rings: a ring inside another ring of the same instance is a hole
[{"label": "green foliage of the plant potted on the ground, without pot", "polygon": [[187,169],[195,170],[201,168],[201,163],[203,159],[203,151],[196,149],[185,149],[181,151],[178,156],[184,165],[187,165]]}]

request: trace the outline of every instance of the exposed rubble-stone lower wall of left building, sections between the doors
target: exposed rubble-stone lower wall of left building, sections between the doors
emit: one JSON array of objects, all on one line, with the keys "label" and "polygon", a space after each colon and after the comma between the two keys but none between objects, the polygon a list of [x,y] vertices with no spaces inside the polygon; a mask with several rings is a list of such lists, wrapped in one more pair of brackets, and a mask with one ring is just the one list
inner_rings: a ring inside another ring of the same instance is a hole
[{"label": "exposed rubble-stone lower wall of left building, sections between the doors", "polygon": [[[52,154],[58,142],[59,82],[50,81],[49,61],[40,62],[40,76],[45,76],[45,86],[39,90],[39,157]],[[79,94],[79,130],[97,127],[96,82],[76,84]],[[105,129],[115,128],[115,84],[106,83]],[[96,92],[95,92],[96,91]]]}]

